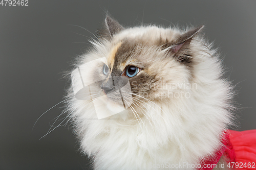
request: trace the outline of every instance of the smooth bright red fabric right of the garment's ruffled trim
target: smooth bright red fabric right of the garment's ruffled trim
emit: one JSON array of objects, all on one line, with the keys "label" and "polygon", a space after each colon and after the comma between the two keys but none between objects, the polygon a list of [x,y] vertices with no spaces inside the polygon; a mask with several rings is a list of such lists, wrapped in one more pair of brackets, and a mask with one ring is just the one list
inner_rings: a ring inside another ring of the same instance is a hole
[{"label": "smooth bright red fabric right of the garment's ruffled trim", "polygon": [[[229,132],[230,142],[232,143],[234,152],[236,153],[237,165],[239,165],[239,167],[237,166],[238,168],[234,165],[234,168],[256,169],[256,130],[241,132],[229,130]],[[251,167],[248,167],[248,163],[250,163]]]}]

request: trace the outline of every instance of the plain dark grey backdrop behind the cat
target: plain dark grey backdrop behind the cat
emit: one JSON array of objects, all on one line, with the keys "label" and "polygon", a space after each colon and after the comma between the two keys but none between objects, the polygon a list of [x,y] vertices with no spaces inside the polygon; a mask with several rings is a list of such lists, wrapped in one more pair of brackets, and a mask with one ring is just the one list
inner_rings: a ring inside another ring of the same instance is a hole
[{"label": "plain dark grey backdrop behind the cat", "polygon": [[[240,130],[256,129],[256,1],[35,1],[0,6],[0,169],[88,169],[71,126],[44,136],[63,109],[61,72],[86,51],[108,10],[124,26],[205,25],[237,85]],[[61,116],[60,118],[64,118]],[[55,125],[58,125],[57,121]],[[62,124],[63,125],[63,124]],[[127,160],[129,161],[129,160]]]}]

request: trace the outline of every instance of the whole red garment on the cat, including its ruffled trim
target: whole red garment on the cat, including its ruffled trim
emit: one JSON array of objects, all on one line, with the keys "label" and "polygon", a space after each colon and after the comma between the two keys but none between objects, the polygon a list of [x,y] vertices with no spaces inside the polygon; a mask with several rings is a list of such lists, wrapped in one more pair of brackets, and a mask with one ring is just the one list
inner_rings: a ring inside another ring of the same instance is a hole
[{"label": "whole red garment on the cat, including its ruffled trim", "polygon": [[204,158],[198,169],[213,169],[210,165],[217,164],[223,154],[229,159],[227,165],[231,169],[256,169],[256,130],[228,130],[223,134],[222,143],[224,147],[214,157]]}]

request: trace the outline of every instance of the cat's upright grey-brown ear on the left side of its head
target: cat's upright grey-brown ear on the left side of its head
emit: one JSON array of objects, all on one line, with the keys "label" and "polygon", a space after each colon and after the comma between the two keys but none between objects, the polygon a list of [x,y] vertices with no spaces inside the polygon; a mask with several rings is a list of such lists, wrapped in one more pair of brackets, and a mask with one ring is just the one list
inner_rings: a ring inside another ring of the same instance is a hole
[{"label": "cat's upright grey-brown ear on the left side of its head", "polygon": [[122,30],[124,30],[123,26],[107,14],[103,23],[103,28],[99,30],[98,33],[100,37],[111,39],[116,33]]}]

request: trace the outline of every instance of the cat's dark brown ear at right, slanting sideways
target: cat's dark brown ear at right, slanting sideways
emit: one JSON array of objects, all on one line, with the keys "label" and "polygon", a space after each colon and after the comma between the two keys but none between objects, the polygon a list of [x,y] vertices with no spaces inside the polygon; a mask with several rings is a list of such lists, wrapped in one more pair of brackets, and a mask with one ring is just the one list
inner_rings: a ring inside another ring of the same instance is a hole
[{"label": "cat's dark brown ear at right, slanting sideways", "polygon": [[197,27],[181,34],[175,42],[167,43],[168,52],[174,54],[174,57],[181,62],[189,62],[190,56],[190,41],[195,37],[204,26]]}]

